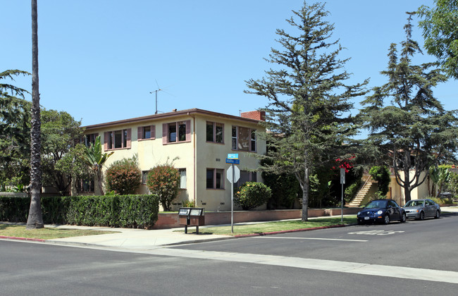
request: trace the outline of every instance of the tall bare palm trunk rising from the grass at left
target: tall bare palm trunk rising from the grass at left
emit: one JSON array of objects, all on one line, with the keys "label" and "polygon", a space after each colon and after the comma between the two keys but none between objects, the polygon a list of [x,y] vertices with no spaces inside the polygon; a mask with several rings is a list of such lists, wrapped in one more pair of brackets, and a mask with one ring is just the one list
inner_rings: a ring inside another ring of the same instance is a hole
[{"label": "tall bare palm trunk rising from the grass at left", "polygon": [[40,201],[42,188],[41,169],[41,122],[39,118],[38,90],[38,15],[37,0],[32,0],[32,130],[30,147],[30,209],[27,229],[43,228],[43,214]]}]

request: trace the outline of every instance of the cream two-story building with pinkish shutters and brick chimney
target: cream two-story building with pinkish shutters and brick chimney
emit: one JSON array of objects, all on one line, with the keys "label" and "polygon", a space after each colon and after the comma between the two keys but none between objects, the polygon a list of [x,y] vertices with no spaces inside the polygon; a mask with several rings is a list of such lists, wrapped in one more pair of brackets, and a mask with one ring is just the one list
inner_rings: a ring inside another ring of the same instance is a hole
[{"label": "cream two-story building with pinkish shutters and brick chimney", "polygon": [[210,211],[230,209],[230,182],[225,163],[228,154],[240,158],[239,185],[246,181],[261,182],[256,171],[259,159],[254,154],[266,153],[266,142],[256,131],[265,113],[252,111],[231,116],[202,109],[173,110],[151,116],[130,118],[85,126],[86,139],[97,135],[104,143],[104,152],[114,152],[106,162],[137,156],[142,170],[139,194],[147,194],[147,174],[159,164],[169,164],[180,171],[180,193],[173,202],[178,208],[182,201]]}]

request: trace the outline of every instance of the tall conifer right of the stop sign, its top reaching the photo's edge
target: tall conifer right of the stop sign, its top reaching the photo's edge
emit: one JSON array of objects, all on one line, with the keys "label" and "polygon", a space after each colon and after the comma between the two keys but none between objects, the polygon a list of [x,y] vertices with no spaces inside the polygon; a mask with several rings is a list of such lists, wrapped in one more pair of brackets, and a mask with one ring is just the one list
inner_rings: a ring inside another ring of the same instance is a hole
[{"label": "tall conifer right of the stop sign, its top reaching the photo's edge", "polygon": [[348,59],[338,58],[342,47],[330,41],[334,25],[324,18],[324,4],[307,5],[287,20],[293,33],[277,30],[281,48],[271,49],[266,61],[276,64],[266,78],[248,80],[245,91],[266,97],[265,127],[259,137],[268,142],[273,165],[263,170],[293,173],[302,189],[302,221],[308,219],[310,175],[316,167],[345,154],[342,145],[354,135],[349,116],[352,97],[366,92],[365,83],[346,85]]}]

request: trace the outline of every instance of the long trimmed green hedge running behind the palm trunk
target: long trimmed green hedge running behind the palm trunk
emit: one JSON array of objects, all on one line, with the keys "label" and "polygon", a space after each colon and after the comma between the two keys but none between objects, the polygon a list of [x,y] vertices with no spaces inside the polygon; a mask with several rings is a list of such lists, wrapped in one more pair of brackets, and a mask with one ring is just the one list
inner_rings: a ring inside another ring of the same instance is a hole
[{"label": "long trimmed green hedge running behind the palm trunk", "polygon": [[[156,195],[42,197],[43,222],[81,226],[152,228],[159,213]],[[0,221],[27,222],[30,198],[0,197]]]}]

